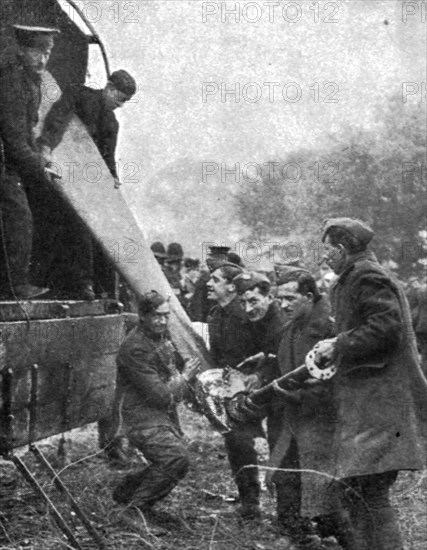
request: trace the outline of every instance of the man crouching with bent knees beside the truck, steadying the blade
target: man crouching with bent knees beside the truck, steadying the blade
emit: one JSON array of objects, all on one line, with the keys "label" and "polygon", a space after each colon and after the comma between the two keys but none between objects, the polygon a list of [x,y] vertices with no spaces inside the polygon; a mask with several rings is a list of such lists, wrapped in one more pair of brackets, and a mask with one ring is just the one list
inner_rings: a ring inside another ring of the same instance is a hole
[{"label": "man crouching with bent knees beside the truck, steadying the blade", "polygon": [[139,325],[117,356],[116,403],[124,432],[149,465],[127,474],[113,498],[150,512],[188,471],[176,403],[200,369],[198,359],[185,365],[168,334],[169,303],[156,291],[138,300]]}]

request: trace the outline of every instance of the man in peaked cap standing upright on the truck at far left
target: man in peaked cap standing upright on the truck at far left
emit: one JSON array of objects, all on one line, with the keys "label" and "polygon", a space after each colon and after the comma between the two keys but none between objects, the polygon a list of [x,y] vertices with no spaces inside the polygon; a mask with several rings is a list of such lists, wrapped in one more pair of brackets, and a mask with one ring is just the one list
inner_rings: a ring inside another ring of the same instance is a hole
[{"label": "man in peaked cap standing upright on the truck at far left", "polygon": [[7,294],[30,299],[48,291],[29,283],[33,215],[29,194],[48,186],[54,172],[37,151],[33,129],[38,122],[41,76],[46,70],[57,29],[15,25],[16,59],[0,73],[1,186],[0,209]]}]

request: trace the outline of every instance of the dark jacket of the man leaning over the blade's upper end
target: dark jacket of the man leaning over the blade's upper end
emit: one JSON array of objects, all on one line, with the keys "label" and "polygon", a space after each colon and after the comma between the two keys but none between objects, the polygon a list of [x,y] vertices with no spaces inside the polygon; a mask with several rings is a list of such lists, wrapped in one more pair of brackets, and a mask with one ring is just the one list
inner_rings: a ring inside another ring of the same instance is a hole
[{"label": "dark jacket of the man leaning over the blade's upper end", "polygon": [[51,149],[59,144],[75,113],[86,126],[113,177],[117,177],[115,151],[119,123],[105,106],[102,90],[70,85],[46,117],[41,143]]}]

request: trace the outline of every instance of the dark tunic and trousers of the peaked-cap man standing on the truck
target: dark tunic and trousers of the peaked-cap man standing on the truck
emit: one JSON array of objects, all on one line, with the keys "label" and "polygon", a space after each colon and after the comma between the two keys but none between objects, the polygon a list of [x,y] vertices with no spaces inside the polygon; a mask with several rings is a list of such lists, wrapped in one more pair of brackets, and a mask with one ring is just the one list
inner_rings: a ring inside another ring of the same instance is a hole
[{"label": "dark tunic and trousers of the peaked-cap man standing on the truck", "polygon": [[[46,162],[37,152],[33,138],[41,102],[40,85],[40,76],[26,70],[19,58],[1,68],[0,138],[4,158],[0,161],[3,165],[0,206],[14,285],[28,282],[33,216],[27,192],[31,187],[46,184],[43,179]],[[7,279],[6,273],[2,273],[2,279]]]}]

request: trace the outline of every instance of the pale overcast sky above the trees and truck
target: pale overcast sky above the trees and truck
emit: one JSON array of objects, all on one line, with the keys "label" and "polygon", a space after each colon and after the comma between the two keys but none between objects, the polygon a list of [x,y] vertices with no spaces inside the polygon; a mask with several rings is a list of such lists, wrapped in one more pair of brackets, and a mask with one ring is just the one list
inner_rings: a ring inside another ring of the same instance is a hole
[{"label": "pale overcast sky above the trees and truck", "polygon": [[[165,201],[180,200],[191,187],[185,179],[202,182],[204,162],[261,165],[300,147],[326,148],[328,135],[348,125],[375,130],[378,108],[401,94],[404,82],[426,80],[421,2],[79,4],[103,38],[112,70],[129,70],[139,84],[136,101],[119,115],[118,158],[122,166],[138,165],[139,183],[124,192],[150,237],[185,244],[194,238],[158,205],[153,186]],[[96,54],[90,72],[103,84]],[[221,93],[232,89],[237,94]],[[238,237],[239,224],[228,207],[224,212],[228,237]]]}]

